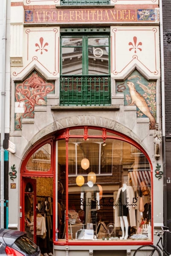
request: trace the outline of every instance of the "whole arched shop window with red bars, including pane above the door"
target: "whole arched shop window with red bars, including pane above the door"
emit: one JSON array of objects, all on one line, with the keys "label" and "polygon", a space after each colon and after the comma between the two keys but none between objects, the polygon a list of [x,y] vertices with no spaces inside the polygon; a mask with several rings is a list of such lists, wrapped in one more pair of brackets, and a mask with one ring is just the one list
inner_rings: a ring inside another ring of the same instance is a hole
[{"label": "whole arched shop window with red bars, including pane above the door", "polygon": [[28,159],[29,173],[37,173],[30,161],[38,160],[42,172],[54,170],[54,243],[133,243],[133,234],[147,235],[151,162],[138,143],[104,128],[72,127],[56,136],[56,146],[41,145]]}]

